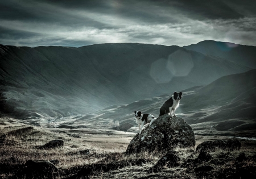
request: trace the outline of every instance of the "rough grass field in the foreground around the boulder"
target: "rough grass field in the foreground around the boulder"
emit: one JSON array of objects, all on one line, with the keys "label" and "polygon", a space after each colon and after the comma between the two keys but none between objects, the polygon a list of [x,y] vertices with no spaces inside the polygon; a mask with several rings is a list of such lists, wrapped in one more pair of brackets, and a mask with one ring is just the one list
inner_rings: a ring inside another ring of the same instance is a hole
[{"label": "rough grass field in the foreground around the boulder", "polygon": [[[79,137],[77,137],[79,136]],[[28,160],[58,161],[55,178],[255,178],[256,141],[241,140],[240,151],[209,153],[212,159],[199,161],[195,149],[173,152],[180,158],[177,166],[163,166],[148,172],[166,152],[125,153],[133,138],[131,132],[51,130],[28,126],[10,118],[0,118],[0,178],[33,178],[19,175]],[[225,136],[196,136],[196,145]],[[64,140],[64,147],[38,149],[50,140]],[[229,139],[229,138],[228,138]],[[83,153],[81,151],[89,150]],[[238,156],[245,154],[245,160]],[[207,170],[208,169],[208,170]],[[38,176],[34,176],[38,178]],[[42,177],[43,178],[43,177]]]}]

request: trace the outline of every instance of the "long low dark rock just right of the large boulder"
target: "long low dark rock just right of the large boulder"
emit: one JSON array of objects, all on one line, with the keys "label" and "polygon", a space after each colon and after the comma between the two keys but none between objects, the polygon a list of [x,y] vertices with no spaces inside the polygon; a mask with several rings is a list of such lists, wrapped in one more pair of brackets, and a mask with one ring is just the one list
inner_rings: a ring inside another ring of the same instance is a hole
[{"label": "long low dark rock just right of the large boulder", "polygon": [[240,150],[241,142],[239,140],[214,140],[204,141],[197,145],[196,151],[199,152],[215,152],[217,149],[224,149],[228,151]]}]

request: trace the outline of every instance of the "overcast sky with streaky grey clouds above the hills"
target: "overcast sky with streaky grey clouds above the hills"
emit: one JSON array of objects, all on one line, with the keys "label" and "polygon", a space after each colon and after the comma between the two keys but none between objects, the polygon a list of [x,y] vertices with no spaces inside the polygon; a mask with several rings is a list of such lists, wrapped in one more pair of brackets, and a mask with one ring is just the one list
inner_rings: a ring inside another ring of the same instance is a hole
[{"label": "overcast sky with streaky grey clouds above the hills", "polygon": [[256,1],[0,1],[4,45],[183,46],[209,39],[256,46]]}]

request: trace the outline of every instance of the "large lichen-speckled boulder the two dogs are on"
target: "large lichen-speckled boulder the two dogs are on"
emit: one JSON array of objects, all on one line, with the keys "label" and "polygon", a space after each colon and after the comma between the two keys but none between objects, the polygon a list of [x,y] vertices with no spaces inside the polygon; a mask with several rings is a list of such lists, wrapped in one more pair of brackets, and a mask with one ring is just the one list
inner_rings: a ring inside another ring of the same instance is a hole
[{"label": "large lichen-speckled boulder the two dogs are on", "polygon": [[170,151],[177,145],[195,147],[195,134],[192,128],[181,118],[170,115],[159,116],[150,127],[146,127],[141,135],[131,140],[126,152]]}]

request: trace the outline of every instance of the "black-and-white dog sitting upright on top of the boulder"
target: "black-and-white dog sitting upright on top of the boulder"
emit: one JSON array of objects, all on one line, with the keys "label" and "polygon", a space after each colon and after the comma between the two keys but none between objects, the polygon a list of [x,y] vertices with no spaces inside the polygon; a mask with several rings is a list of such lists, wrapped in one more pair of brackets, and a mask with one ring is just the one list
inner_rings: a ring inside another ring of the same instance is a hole
[{"label": "black-and-white dog sitting upright on top of the boulder", "polygon": [[172,95],[170,99],[164,102],[163,106],[160,108],[159,116],[164,114],[169,114],[169,113],[172,116],[172,111],[174,111],[174,117],[176,117],[175,110],[179,106],[181,96],[182,96],[182,92],[180,93],[174,92],[174,95]]}]

